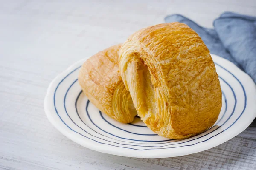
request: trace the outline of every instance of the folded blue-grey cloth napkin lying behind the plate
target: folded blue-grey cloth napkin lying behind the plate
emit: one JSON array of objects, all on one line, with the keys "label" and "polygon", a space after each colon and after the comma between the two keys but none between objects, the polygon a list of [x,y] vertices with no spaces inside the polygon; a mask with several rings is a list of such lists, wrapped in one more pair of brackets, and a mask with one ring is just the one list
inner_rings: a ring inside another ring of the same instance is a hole
[{"label": "folded blue-grey cloth napkin lying behind the plate", "polygon": [[214,29],[201,27],[179,14],[167,16],[165,21],[187,24],[212,54],[230,60],[256,82],[256,17],[225,12],[213,22]]}]

